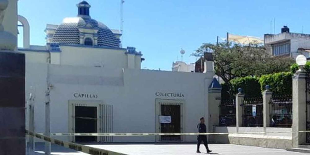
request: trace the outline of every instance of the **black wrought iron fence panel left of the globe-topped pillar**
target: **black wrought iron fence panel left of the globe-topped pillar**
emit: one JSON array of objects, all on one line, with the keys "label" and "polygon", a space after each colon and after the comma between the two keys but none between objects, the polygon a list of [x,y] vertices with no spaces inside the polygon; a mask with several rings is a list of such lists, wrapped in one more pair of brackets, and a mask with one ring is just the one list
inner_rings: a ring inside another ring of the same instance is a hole
[{"label": "black wrought iron fence panel left of the globe-topped pillar", "polygon": [[272,95],[269,103],[270,126],[292,126],[292,95]]}]

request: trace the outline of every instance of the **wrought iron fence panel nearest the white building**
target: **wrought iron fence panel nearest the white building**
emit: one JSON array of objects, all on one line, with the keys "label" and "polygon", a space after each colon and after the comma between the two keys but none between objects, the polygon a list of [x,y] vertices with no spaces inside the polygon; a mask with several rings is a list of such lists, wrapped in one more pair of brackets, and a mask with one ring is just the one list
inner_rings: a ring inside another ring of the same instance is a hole
[{"label": "wrought iron fence panel nearest the white building", "polygon": [[236,126],[236,103],[234,99],[221,100],[219,126]]}]

